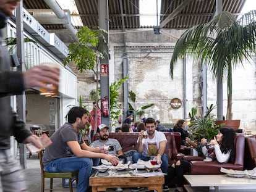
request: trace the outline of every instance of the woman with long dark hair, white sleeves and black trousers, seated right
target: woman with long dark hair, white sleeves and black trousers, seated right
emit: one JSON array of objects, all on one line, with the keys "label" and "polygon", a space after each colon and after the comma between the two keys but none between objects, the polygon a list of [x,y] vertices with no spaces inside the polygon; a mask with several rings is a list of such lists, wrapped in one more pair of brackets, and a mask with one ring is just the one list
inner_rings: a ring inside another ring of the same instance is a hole
[{"label": "woman with long dark hair, white sleeves and black trousers, seated right", "polygon": [[[220,128],[218,135],[210,143],[202,145],[204,156],[210,158],[210,161],[234,163],[234,133],[235,131],[231,128]],[[177,188],[175,192],[182,191],[184,184],[183,175],[190,171],[190,167],[190,162],[184,160],[179,160],[171,165],[166,182],[169,182],[176,176]]]}]

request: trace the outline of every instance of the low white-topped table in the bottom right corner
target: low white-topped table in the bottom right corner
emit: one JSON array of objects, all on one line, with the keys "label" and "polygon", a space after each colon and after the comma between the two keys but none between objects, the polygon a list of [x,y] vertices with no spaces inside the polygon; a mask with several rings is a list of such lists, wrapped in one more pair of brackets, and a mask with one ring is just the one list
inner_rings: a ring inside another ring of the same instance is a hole
[{"label": "low white-topped table in the bottom right corner", "polygon": [[[208,187],[208,190],[220,191],[256,191],[256,180],[252,178],[234,178],[227,175],[184,175],[190,186]],[[193,191],[193,190],[190,190]]]}]

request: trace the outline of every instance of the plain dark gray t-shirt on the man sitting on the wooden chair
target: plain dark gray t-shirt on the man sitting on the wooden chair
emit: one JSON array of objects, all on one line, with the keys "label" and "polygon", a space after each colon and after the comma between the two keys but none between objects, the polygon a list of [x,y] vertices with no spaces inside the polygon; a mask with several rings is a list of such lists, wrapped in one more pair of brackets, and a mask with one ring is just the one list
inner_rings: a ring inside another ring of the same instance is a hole
[{"label": "plain dark gray t-shirt on the man sitting on the wooden chair", "polygon": [[65,123],[52,136],[53,143],[49,145],[43,154],[43,165],[47,165],[54,159],[63,157],[74,157],[73,152],[67,146],[67,141],[77,141],[79,144],[84,143],[80,131],[76,131],[70,123]]}]

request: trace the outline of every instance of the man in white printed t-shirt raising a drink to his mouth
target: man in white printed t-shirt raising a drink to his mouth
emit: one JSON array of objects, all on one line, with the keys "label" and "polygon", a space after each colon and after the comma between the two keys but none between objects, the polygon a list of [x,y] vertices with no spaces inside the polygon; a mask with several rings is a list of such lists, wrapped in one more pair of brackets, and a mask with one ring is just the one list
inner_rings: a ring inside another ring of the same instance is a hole
[{"label": "man in white printed t-shirt raising a drink to his mouth", "polygon": [[[166,137],[164,133],[156,131],[155,119],[149,117],[145,120],[145,127],[148,133],[147,138],[143,138],[144,130],[140,131],[137,140],[137,151],[132,156],[132,162],[137,163],[139,159],[149,161],[150,156],[156,156],[157,163],[161,164],[163,173],[168,173],[168,156],[164,153],[166,148]],[[167,182],[167,181],[166,181]],[[143,190],[142,187],[132,189],[132,192]],[[169,191],[167,185],[163,185],[163,191]]]}]

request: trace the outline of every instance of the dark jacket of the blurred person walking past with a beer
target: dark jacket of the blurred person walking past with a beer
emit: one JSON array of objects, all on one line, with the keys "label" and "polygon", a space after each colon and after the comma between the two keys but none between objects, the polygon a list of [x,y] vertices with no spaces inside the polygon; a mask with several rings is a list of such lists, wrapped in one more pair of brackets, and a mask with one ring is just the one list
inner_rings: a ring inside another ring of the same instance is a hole
[{"label": "dark jacket of the blurred person walking past with a beer", "polygon": [[[6,17],[0,14],[0,28],[4,27]],[[0,34],[0,40],[2,35]],[[2,41],[1,41],[2,42]],[[21,94],[24,90],[23,75],[11,72],[11,57],[7,48],[0,44],[0,149],[10,148],[10,136],[14,135],[18,142],[22,142],[31,131],[25,128],[25,123],[17,119],[11,108],[11,95]]]}]

